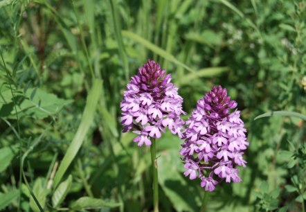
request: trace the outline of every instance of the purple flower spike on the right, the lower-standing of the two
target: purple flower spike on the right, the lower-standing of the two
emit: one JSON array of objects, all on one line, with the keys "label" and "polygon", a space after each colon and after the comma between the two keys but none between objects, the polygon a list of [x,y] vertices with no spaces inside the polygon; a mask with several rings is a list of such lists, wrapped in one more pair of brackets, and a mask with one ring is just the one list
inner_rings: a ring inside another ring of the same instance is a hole
[{"label": "purple flower spike on the right, the lower-standing of the two", "polygon": [[[184,175],[190,179],[199,177],[205,191],[214,191],[223,180],[240,182],[237,166],[246,167],[243,159],[243,150],[249,145],[246,129],[240,111],[230,112],[237,107],[230,98],[226,89],[213,87],[197,102],[186,122],[186,140],[180,151],[186,168]],[[128,122],[127,118],[123,122]]]}]

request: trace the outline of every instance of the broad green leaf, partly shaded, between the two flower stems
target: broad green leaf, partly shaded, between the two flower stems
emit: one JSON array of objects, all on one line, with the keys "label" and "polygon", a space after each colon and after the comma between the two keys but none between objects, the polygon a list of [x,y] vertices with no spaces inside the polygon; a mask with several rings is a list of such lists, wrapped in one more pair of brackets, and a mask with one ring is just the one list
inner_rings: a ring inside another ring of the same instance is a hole
[{"label": "broad green leaf, partly shaded, between the two flower stems", "polygon": [[183,173],[178,170],[183,164],[179,160],[173,164],[174,158],[179,158],[179,151],[175,149],[163,151],[157,159],[159,173],[162,173],[159,175],[159,184],[176,211],[198,211],[195,197],[197,192],[183,179]]}]

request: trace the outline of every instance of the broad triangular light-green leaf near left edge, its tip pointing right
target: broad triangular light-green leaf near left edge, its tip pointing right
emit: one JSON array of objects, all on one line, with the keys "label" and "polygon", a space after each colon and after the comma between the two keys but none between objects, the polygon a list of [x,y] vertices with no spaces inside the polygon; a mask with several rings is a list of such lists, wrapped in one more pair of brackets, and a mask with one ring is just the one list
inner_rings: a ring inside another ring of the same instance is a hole
[{"label": "broad triangular light-green leaf near left edge, its tip pointing right", "polygon": [[[24,96],[26,99],[17,105],[17,113],[19,116],[31,116],[38,119],[54,115],[64,105],[71,103],[71,100],[57,98],[54,94],[46,93],[46,91],[38,88],[28,89]],[[11,114],[11,118],[16,118],[15,110],[12,113],[14,114]]]}]

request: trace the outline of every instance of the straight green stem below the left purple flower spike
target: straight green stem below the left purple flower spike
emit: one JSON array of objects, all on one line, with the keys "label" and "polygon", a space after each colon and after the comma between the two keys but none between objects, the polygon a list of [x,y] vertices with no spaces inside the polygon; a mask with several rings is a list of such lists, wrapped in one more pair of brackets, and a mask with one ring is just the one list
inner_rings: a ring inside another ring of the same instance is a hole
[{"label": "straight green stem below the left purple flower spike", "polygon": [[156,143],[155,143],[155,139],[152,139],[151,161],[152,161],[152,175],[153,175],[153,204],[154,204],[154,212],[159,212],[159,181],[158,181],[158,174],[157,174]]}]

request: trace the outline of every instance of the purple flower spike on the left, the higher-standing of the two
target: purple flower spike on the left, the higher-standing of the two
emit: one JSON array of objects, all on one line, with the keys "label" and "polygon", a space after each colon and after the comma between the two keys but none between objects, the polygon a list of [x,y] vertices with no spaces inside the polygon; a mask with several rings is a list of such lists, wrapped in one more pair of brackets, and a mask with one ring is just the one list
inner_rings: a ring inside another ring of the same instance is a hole
[{"label": "purple flower spike on the left, the higher-standing of the two", "polygon": [[[183,98],[171,82],[171,75],[165,75],[158,63],[148,60],[132,77],[120,103],[123,132],[133,131],[138,136],[138,146],[151,145],[150,138],[159,139],[165,127],[180,139],[184,135],[185,122],[180,118]],[[241,161],[240,156],[236,160]],[[241,161],[240,163],[243,163]],[[195,176],[192,173],[192,176]]]}]

